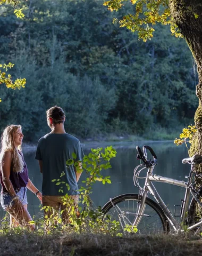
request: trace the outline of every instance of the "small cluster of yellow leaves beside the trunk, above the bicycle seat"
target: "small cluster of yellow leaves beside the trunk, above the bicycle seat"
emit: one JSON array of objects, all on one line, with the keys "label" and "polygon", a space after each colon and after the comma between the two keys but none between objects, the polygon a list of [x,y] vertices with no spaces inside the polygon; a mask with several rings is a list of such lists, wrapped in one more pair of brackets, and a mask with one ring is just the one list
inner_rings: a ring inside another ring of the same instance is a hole
[{"label": "small cluster of yellow leaves beside the trunk, above the bicycle seat", "polygon": [[186,144],[189,142],[191,144],[193,135],[196,133],[197,129],[195,125],[189,125],[187,128],[184,128],[182,130],[182,133],[180,134],[180,139],[175,139],[174,143],[176,146],[182,145],[183,143]]}]

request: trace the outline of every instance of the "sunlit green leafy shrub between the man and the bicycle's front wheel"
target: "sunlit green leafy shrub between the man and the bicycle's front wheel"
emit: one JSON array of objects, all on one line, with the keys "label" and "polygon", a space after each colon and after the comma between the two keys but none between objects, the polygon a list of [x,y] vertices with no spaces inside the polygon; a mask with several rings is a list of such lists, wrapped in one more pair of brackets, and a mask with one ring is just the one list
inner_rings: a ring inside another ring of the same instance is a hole
[{"label": "sunlit green leafy shrub between the man and the bicycle's front wheel", "polygon": [[[83,160],[79,162],[75,162],[75,158],[77,156],[74,153],[72,154],[72,159],[66,161],[67,166],[73,165],[77,168],[77,171],[85,171],[87,174],[87,179],[82,181],[85,185],[81,186],[79,189],[79,198],[82,207],[80,206],[78,208],[78,206],[74,204],[71,196],[68,194],[62,196],[63,205],[65,205],[66,209],[57,213],[57,215],[54,213],[51,214],[51,216],[45,220],[46,226],[49,228],[55,228],[55,220],[57,220],[58,223],[62,223],[61,214],[66,211],[69,215],[67,222],[71,223],[73,231],[76,233],[90,231],[91,233],[116,234],[119,222],[113,221],[111,222],[112,225],[109,227],[108,224],[110,222],[110,217],[104,219],[104,214],[102,213],[101,208],[98,207],[98,209],[94,210],[90,199],[90,194],[92,194],[92,185],[95,182],[102,182],[103,185],[105,185],[106,182],[111,183],[110,177],[104,178],[100,172],[103,169],[109,169],[111,167],[110,160],[115,156],[116,151],[112,146],[106,147],[105,149],[91,149],[91,153],[83,157]],[[61,177],[63,177],[63,175],[65,174],[62,173]],[[56,186],[60,186],[59,190],[62,192],[63,186],[67,186],[68,189],[70,189],[69,185],[61,181],[61,179],[54,179],[52,182],[55,182]],[[50,210],[47,207],[43,207],[43,209],[45,209],[46,212]]]}]

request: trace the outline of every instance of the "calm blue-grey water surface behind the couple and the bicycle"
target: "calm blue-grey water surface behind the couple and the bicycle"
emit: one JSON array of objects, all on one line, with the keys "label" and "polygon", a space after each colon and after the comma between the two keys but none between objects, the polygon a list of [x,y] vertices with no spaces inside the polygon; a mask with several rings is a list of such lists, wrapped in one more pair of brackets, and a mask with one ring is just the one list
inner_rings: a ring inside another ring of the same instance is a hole
[{"label": "calm blue-grey water surface behind the couple and the bicycle", "polygon": [[[108,142],[106,145],[97,143],[93,148],[105,147],[112,145],[116,148],[117,156],[112,159],[112,169],[103,170],[103,176],[111,176],[112,184],[103,185],[101,182],[97,182],[94,185],[94,191],[91,196],[96,206],[103,206],[110,198],[126,194],[126,193],[138,193],[138,188],[133,184],[133,170],[139,164],[137,161],[136,146],[148,145],[152,147],[158,157],[158,165],[155,167],[154,174],[162,175],[165,177],[171,177],[177,180],[185,180],[186,175],[189,174],[189,165],[182,165],[182,158],[188,157],[188,150],[185,146],[176,147],[173,142],[125,142],[116,143]],[[86,145],[83,146],[85,153],[90,150]],[[39,171],[38,161],[35,160],[35,152],[24,152],[24,158],[28,165],[29,178],[35,184],[35,186],[41,189],[42,177]],[[146,170],[142,171],[141,177],[144,177]],[[57,177],[55,177],[57,179]],[[82,174],[79,184],[85,179],[85,175]],[[144,181],[144,180],[142,180]],[[181,199],[184,197],[184,188],[168,185],[165,183],[154,183],[158,193],[162,199],[169,206],[170,210],[174,209],[174,204],[181,204]],[[39,201],[38,198],[28,191],[28,210],[31,215],[39,213]],[[0,217],[4,214],[3,209],[0,210]]]}]

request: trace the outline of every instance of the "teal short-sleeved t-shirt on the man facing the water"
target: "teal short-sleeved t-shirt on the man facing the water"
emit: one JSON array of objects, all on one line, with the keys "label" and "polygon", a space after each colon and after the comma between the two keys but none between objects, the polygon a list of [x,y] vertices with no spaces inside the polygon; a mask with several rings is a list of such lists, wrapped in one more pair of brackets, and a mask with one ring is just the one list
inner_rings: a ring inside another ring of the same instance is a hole
[{"label": "teal short-sleeved t-shirt on the man facing the water", "polygon": [[[68,133],[48,133],[38,141],[35,159],[43,162],[42,194],[47,196],[77,195],[78,185],[73,165],[66,166],[66,161],[72,159],[72,153],[77,155],[75,161],[82,160],[84,154],[80,141]],[[65,175],[61,176],[64,172]],[[54,179],[68,183],[56,186]],[[59,189],[63,190],[58,192]]]}]

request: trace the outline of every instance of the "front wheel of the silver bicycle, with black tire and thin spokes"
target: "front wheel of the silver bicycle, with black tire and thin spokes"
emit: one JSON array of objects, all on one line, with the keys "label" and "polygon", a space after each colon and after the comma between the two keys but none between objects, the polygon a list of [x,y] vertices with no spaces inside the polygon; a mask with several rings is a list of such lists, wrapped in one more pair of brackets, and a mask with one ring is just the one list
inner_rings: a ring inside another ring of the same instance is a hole
[{"label": "front wheel of the silver bicycle, with black tire and thin spokes", "polygon": [[[105,214],[111,216],[111,220],[120,222],[120,230],[124,232],[127,225],[132,225],[137,217],[138,194],[124,194],[111,199],[102,208]],[[168,234],[169,222],[156,202],[146,198],[145,211],[137,226],[138,234]]]}]

